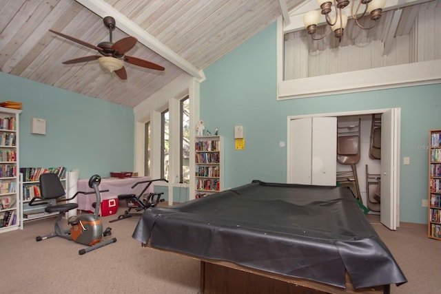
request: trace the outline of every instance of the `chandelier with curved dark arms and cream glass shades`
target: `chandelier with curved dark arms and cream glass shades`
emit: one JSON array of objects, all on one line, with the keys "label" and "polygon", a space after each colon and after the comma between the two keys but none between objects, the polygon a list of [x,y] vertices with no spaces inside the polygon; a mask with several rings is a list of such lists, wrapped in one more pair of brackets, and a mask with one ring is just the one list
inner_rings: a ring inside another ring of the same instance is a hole
[{"label": "chandelier with curved dark arms and cream glass shades", "polygon": [[[345,1],[345,0],[317,0],[318,5],[321,8],[321,14],[325,15],[326,22],[328,24],[327,32],[323,36],[316,37],[317,23],[320,19],[320,11],[311,10],[303,15],[303,23],[307,29],[307,33],[311,35],[314,40],[320,40],[325,38],[329,32],[334,31],[334,36],[341,40],[343,35],[343,30],[345,30],[347,25],[347,14],[343,11],[351,2],[351,17],[356,22],[359,28],[363,30],[370,30],[375,27],[377,20],[381,17],[382,9],[386,4],[386,0],[360,0],[358,5],[354,8],[355,0]],[[332,11],[332,6],[334,4],[334,10]],[[364,10],[360,14],[360,6],[364,5]],[[365,28],[358,22],[359,19],[365,16],[366,12],[369,12],[371,20],[375,21],[373,26],[370,28]]]}]

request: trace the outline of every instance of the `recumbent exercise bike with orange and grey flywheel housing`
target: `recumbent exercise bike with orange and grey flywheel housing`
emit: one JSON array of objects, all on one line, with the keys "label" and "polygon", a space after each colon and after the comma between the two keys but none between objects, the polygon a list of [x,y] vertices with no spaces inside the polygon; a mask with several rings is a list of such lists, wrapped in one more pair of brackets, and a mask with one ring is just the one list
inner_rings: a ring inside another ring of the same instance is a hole
[{"label": "recumbent exercise bike with orange and grey flywheel housing", "polygon": [[[102,240],[103,236],[112,235],[112,228],[107,227],[103,232],[103,224],[99,219],[99,209],[101,204],[101,194],[98,186],[101,182],[101,177],[94,175],[89,180],[89,187],[94,189],[91,192],[77,191],[72,198],[59,199],[61,196],[65,195],[64,187],[61,184],[58,176],[56,174],[42,174],[40,176],[40,189],[41,198],[32,198],[30,200],[30,206],[37,206],[41,204],[49,204],[45,207],[45,211],[48,213],[59,212],[57,216],[57,221],[54,226],[54,233],[48,235],[37,236],[35,240],[41,241],[53,237],[61,237],[68,240],[72,240],[79,244],[88,245],[88,247],[79,250],[79,255],[83,255],[92,250],[99,249],[108,244],[116,242],[116,238]],[[74,199],[79,194],[96,194],[96,202],[94,202],[94,213],[81,214],[79,216],[71,216],[68,219],[68,224],[70,224],[70,229],[63,229],[61,224],[61,218],[64,214],[71,209],[78,208],[78,204],[69,203],[69,200]],[[58,198],[58,199],[57,199]],[[64,202],[63,204],[57,204],[57,202]]]}]

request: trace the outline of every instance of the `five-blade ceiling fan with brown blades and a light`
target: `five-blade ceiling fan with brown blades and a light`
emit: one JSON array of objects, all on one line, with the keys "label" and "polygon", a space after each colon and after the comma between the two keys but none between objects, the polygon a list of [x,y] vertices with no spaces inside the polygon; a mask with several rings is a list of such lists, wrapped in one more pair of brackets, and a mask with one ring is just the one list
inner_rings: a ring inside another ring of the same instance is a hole
[{"label": "five-blade ceiling fan with brown blades and a light", "polygon": [[80,45],[86,46],[88,48],[97,50],[101,55],[91,55],[91,56],[83,56],[76,59],[70,59],[68,61],[63,61],[63,64],[72,64],[72,63],[81,63],[94,61],[98,59],[98,62],[105,69],[110,70],[110,72],[115,72],[121,80],[127,80],[127,72],[125,71],[123,61],[138,65],[141,67],[150,68],[152,70],[165,70],[161,65],[157,65],[156,63],[152,63],[150,61],[146,61],[143,59],[139,59],[134,56],[125,55],[125,52],[130,51],[138,39],[134,36],[127,36],[115,43],[112,42],[112,31],[115,27],[115,19],[113,17],[105,17],[103,19],[104,25],[109,29],[109,41],[103,41],[98,45],[92,45],[88,42],[82,41],[80,39],[76,39],[73,36],[68,36],[67,34],[63,34],[62,32],[56,32],[54,30],[49,30],[54,34],[58,34],[59,36],[63,36],[65,39],[70,41],[74,41],[75,43],[79,43]]}]

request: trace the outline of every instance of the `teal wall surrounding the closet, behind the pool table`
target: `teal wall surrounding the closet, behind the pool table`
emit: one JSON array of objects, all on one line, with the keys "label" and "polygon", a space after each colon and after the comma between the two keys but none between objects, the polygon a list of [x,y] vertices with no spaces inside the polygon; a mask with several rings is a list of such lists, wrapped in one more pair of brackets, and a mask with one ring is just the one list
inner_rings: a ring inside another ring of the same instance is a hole
[{"label": "teal wall surrounding the closet, behind the pool table", "polygon": [[[201,119],[225,136],[225,187],[253,179],[286,182],[287,116],[401,108],[400,220],[427,223],[427,141],[441,128],[441,84],[276,101],[276,23],[205,70]],[[345,83],[345,81],[342,81]],[[234,149],[234,125],[244,126],[245,149]],[[402,160],[401,160],[402,161]]]}]

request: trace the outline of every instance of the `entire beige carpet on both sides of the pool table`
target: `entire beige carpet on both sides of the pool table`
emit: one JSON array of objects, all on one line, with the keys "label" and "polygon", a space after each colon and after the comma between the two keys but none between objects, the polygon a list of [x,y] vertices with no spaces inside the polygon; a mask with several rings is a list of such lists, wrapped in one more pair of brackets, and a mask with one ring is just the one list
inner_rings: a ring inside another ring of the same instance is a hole
[{"label": "entire beige carpet on both sides of the pool table", "polygon": [[[123,213],[120,208],[119,213]],[[108,223],[118,241],[85,255],[83,245],[62,238],[36,242],[50,233],[54,218],[26,222],[23,231],[0,234],[3,268],[0,293],[198,293],[200,264],[192,258],[141,247],[132,239],[139,218]],[[426,237],[426,226],[402,223],[397,231],[369,216],[409,282],[391,293],[439,293],[441,241]]]}]

